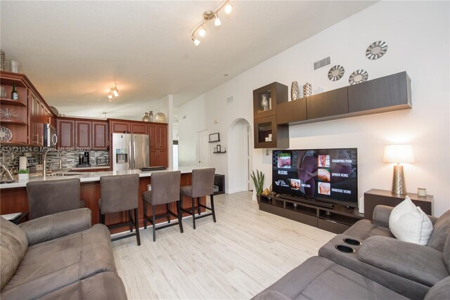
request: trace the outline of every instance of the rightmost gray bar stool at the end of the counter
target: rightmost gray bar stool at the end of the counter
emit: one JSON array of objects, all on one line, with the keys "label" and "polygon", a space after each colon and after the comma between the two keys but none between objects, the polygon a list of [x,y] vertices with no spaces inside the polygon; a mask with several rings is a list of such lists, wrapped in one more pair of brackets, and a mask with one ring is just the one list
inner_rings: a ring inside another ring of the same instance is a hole
[{"label": "rightmost gray bar stool at the end of the counter", "polygon": [[[182,186],[180,188],[181,195],[186,195],[192,199],[192,209],[186,210],[181,207],[182,211],[192,215],[193,228],[195,229],[195,219],[205,218],[205,216],[212,216],[214,223],[216,222],[216,214],[214,212],[214,173],[216,169],[195,169],[192,170],[192,185]],[[210,195],[211,207],[207,207],[200,203],[200,198]],[[182,196],[180,197],[183,199]],[[197,198],[198,205],[195,206],[195,198]],[[200,208],[210,209],[209,214],[200,215]],[[195,209],[198,209],[198,216],[195,216]]]}]

